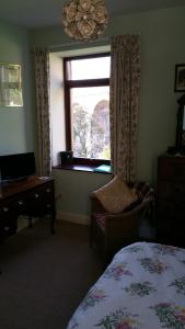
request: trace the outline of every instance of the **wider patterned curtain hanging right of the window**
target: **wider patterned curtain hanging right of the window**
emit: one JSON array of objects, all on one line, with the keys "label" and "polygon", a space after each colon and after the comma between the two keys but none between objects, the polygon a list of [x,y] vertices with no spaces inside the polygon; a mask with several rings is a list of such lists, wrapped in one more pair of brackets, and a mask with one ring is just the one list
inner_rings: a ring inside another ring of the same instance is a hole
[{"label": "wider patterned curtain hanging right of the window", "polygon": [[120,35],[111,42],[111,158],[113,173],[136,177],[140,89],[140,37]]}]

